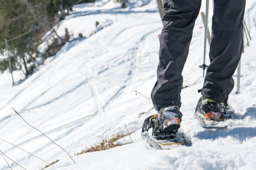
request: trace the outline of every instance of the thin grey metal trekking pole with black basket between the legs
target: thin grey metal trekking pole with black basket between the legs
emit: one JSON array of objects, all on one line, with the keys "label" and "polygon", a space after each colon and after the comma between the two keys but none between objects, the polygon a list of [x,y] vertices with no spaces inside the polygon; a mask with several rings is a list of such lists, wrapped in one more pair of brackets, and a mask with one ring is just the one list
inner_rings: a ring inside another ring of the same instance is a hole
[{"label": "thin grey metal trekking pole with black basket between the legs", "polygon": [[207,29],[208,29],[208,16],[209,16],[209,0],[206,0],[206,11],[205,11],[205,20],[204,20],[204,46],[203,46],[203,64],[199,67],[203,69],[203,77],[205,74],[205,69],[208,67],[205,64],[206,58],[206,43],[207,43]]}]

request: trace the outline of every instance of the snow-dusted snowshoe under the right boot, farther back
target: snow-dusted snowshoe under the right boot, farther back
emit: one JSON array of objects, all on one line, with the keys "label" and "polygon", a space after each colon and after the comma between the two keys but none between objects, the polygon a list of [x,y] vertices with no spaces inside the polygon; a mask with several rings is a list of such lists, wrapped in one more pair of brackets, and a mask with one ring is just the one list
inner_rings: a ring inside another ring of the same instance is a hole
[{"label": "snow-dusted snowshoe under the right boot, farther back", "polygon": [[222,114],[220,119],[207,120],[202,113],[200,104],[197,104],[195,116],[196,116],[197,120],[199,121],[199,125],[202,128],[206,128],[206,129],[227,128],[228,124],[226,123],[226,120],[234,119],[235,111],[228,103],[225,103],[225,107],[226,107],[226,113]]}]

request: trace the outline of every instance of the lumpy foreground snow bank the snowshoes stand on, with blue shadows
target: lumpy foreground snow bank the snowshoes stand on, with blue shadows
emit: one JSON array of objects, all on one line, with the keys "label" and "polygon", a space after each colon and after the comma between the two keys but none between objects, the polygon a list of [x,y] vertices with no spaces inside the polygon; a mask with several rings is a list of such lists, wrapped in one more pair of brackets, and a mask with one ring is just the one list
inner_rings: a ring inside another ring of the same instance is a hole
[{"label": "lumpy foreground snow bank the snowshoes stand on, with blue shadows", "polygon": [[[254,36],[256,34],[254,33]],[[227,129],[204,129],[194,117],[194,109],[202,83],[182,90],[183,121],[181,129],[193,143],[191,147],[176,145],[171,150],[155,150],[141,139],[141,129],[118,142],[123,146],[110,150],[76,156],[76,165],[69,160],[56,164],[58,170],[76,169],[255,169],[256,163],[256,72],[255,42],[246,48],[242,58],[241,94],[235,90],[229,96],[236,110],[234,120],[228,120]],[[250,100],[248,100],[250,99]],[[153,113],[153,111],[152,111]],[[139,118],[139,124],[150,114]],[[69,166],[68,166],[69,165]]]}]

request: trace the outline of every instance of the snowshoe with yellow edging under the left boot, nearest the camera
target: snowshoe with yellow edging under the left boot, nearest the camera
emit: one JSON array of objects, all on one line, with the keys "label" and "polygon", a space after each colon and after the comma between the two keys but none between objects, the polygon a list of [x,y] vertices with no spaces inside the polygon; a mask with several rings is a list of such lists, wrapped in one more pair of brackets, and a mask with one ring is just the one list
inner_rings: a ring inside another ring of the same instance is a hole
[{"label": "snowshoe with yellow edging under the left boot, nearest the camera", "polygon": [[192,146],[192,143],[188,140],[187,136],[179,130],[175,135],[163,135],[157,138],[151,133],[152,132],[152,119],[155,116],[149,116],[143,123],[141,137],[145,139],[150,146],[155,149],[169,149],[171,145],[185,145]]}]

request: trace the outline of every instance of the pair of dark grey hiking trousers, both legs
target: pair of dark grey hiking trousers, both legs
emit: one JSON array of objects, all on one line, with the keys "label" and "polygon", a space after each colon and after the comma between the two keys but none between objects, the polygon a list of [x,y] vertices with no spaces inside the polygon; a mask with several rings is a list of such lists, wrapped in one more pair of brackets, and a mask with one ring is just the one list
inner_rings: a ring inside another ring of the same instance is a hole
[{"label": "pair of dark grey hiking trousers, both legs", "polygon": [[[201,0],[164,0],[164,27],[160,36],[157,82],[151,97],[156,110],[181,107],[181,75],[187,60]],[[245,0],[215,0],[210,65],[203,84],[203,96],[224,102],[234,88],[232,75],[243,47]]]}]

